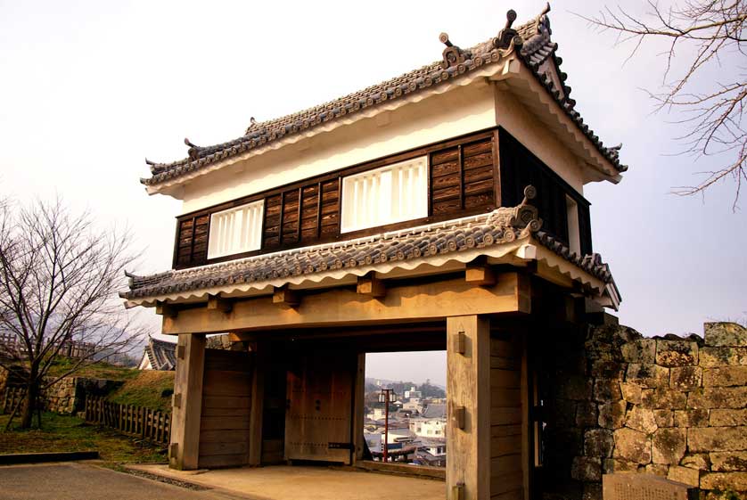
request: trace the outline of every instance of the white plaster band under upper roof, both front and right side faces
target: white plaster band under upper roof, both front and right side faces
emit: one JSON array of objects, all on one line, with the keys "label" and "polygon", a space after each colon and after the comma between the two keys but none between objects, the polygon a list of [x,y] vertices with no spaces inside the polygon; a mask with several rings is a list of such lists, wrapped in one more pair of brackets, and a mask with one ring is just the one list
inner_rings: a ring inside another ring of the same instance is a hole
[{"label": "white plaster band under upper roof, both front and right side faces", "polygon": [[497,125],[583,193],[578,157],[507,87],[481,79],[198,177],[184,187],[182,213]]}]

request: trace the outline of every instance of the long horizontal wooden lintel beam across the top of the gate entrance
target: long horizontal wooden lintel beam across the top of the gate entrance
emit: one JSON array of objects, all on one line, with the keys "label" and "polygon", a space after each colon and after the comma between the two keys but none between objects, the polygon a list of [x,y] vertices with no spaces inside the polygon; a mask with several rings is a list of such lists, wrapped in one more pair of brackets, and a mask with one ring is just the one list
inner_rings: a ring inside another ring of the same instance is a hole
[{"label": "long horizontal wooden lintel beam across the top of the gate entrance", "polygon": [[230,316],[194,307],[164,318],[163,333],[250,332],[293,327],[314,328],[442,320],[447,316],[529,313],[529,277],[500,275],[493,286],[479,287],[454,278],[432,283],[390,286],[386,297],[371,299],[336,288],[308,293],[298,307],[277,307],[275,296],[237,300]]}]

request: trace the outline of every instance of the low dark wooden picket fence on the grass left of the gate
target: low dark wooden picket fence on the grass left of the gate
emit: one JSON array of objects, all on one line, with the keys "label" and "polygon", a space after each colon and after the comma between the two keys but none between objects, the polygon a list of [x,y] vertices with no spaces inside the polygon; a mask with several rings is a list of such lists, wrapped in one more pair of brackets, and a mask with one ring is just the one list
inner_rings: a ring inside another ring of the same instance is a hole
[{"label": "low dark wooden picket fence on the grass left of the gate", "polygon": [[170,413],[141,406],[120,405],[103,398],[86,398],[86,422],[98,423],[129,436],[167,445],[171,433]]}]

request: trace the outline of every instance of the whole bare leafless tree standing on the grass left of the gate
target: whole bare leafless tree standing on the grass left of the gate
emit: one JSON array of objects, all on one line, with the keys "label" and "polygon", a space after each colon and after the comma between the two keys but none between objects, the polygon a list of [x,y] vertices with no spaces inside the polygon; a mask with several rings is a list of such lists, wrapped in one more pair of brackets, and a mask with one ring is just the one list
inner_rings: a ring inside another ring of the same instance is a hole
[{"label": "whole bare leafless tree standing on the grass left of the gate", "polygon": [[[13,207],[0,201],[0,366],[22,366],[21,427],[42,390],[86,365],[126,353],[142,338],[121,306],[124,269],[135,256],[127,231],[102,231],[62,200]],[[51,369],[71,342],[86,346],[62,373]]]}]

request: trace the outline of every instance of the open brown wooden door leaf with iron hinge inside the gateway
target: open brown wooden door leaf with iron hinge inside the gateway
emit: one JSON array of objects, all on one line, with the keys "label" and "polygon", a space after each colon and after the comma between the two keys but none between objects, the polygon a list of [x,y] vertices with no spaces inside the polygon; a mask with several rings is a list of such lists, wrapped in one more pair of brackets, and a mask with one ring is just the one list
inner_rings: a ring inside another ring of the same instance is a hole
[{"label": "open brown wooden door leaf with iron hinge inside the gateway", "polygon": [[285,459],[350,463],[354,353],[301,354],[288,370]]}]

